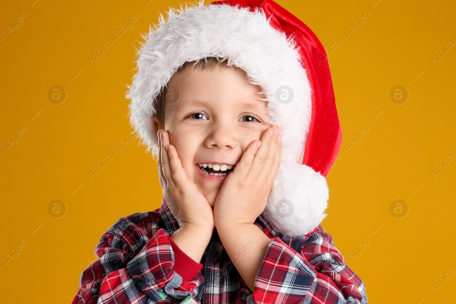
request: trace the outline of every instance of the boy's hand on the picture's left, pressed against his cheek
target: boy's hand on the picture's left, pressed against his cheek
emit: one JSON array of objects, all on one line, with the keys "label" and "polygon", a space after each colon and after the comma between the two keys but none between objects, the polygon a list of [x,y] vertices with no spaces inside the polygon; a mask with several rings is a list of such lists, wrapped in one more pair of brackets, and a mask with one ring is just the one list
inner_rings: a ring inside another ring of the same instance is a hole
[{"label": "boy's hand on the picture's left, pressed against his cheek", "polygon": [[[170,144],[168,132],[158,130],[158,171],[163,197],[180,227],[214,227],[212,207],[187,176]],[[166,147],[169,149],[167,151]]]}]

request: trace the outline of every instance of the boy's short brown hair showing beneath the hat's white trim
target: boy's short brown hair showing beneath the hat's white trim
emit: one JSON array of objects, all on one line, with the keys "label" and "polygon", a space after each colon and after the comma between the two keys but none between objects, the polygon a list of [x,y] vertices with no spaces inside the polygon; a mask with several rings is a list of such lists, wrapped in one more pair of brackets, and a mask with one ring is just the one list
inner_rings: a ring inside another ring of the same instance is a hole
[{"label": "boy's short brown hair showing beneath the hat's white trim", "polygon": [[[215,67],[222,68],[227,66],[228,59],[223,59],[220,57],[204,57],[198,60],[186,61],[180,67],[176,69],[173,75],[177,73],[183,72],[185,69],[192,67],[197,71],[204,71],[204,70],[213,70]],[[155,105],[157,112],[157,118],[159,119],[160,123],[163,124],[165,122],[165,104],[166,104],[166,95],[168,91],[168,83],[163,86],[160,93],[155,97]]]}]

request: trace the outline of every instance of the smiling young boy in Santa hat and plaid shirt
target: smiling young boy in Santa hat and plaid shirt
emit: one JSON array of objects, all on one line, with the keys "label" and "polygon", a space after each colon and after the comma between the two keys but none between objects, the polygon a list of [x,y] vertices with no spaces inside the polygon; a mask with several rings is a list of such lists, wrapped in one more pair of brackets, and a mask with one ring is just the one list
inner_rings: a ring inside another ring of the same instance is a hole
[{"label": "smiling young boy in Santa hat and plaid shirt", "polygon": [[101,237],[73,304],[367,304],[320,226],[342,140],[320,41],[271,0],[179,12],[127,95],[162,205]]}]

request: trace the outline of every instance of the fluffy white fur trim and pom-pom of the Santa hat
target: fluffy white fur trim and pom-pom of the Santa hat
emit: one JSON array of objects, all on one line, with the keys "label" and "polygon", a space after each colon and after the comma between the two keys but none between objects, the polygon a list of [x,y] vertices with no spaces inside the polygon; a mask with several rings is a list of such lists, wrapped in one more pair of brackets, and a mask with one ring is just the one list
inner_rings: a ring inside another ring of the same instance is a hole
[{"label": "fluffy white fur trim and pom-pom of the Santa hat", "polygon": [[326,178],[302,164],[312,116],[311,85],[294,40],[270,26],[262,8],[252,10],[200,1],[170,9],[167,20],[160,15],[137,52],[138,72],[126,95],[131,99],[130,123],[146,151],[156,155],[155,97],[177,68],[205,57],[227,59],[228,66],[242,68],[262,89],[270,123],[282,135],[280,169],[262,214],[275,231],[304,235],[325,218],[329,198]]}]

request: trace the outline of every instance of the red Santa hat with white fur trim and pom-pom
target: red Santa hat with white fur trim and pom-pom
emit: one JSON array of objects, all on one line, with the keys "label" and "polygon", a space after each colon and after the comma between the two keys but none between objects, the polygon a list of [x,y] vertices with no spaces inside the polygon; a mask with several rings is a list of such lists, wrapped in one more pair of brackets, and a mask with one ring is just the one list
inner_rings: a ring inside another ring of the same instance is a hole
[{"label": "red Santa hat with white fur trim and pom-pom", "polygon": [[284,235],[307,234],[326,216],[326,175],[342,142],[326,52],[301,20],[272,0],[228,0],[170,9],[143,36],[127,93],[130,122],[153,155],[155,97],[184,62],[227,59],[259,85],[282,135],[280,169],[262,215]]}]

